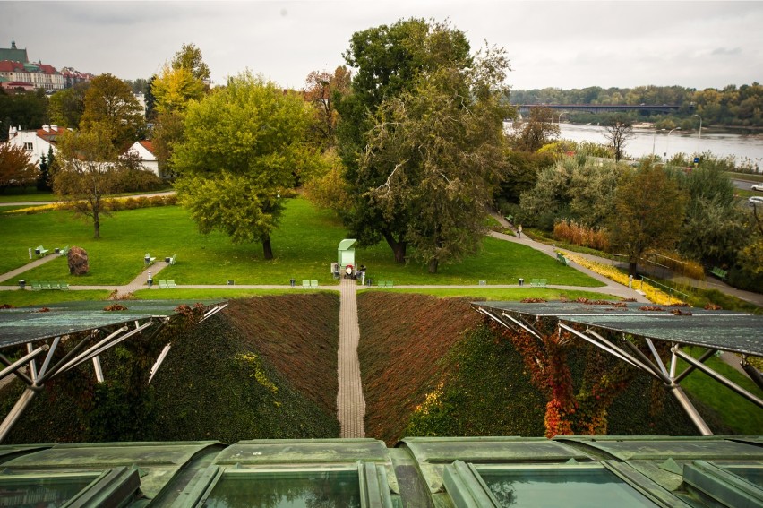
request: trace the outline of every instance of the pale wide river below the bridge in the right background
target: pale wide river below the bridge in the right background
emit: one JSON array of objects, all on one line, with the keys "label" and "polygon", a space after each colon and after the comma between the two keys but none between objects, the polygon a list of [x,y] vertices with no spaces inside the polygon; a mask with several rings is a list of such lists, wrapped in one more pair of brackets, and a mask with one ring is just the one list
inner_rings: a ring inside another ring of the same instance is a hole
[{"label": "pale wide river below the bridge in the right background", "polygon": [[[562,139],[608,143],[604,138],[602,126],[562,123],[560,127]],[[699,131],[682,133],[673,130],[668,136],[668,131],[634,128],[633,138],[625,143],[625,153],[630,159],[639,159],[652,155],[653,152],[664,159],[665,154],[671,158],[679,152],[694,155],[706,151],[721,158],[733,156],[737,165],[747,165],[746,163],[751,162],[758,166],[759,171],[763,170],[763,134],[706,133],[703,129],[700,139]]]}]

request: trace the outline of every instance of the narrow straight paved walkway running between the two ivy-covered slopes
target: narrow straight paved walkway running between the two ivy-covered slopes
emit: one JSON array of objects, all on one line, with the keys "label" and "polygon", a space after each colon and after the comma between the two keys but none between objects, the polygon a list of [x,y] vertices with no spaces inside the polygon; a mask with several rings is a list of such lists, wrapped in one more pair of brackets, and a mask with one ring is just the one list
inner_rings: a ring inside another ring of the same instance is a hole
[{"label": "narrow straight paved walkway running between the two ivy-covered slopes", "polygon": [[339,288],[339,437],[365,437],[365,400],[360,379],[360,362],[357,358],[357,343],[360,339],[360,327],[357,324],[357,281],[342,279]]}]

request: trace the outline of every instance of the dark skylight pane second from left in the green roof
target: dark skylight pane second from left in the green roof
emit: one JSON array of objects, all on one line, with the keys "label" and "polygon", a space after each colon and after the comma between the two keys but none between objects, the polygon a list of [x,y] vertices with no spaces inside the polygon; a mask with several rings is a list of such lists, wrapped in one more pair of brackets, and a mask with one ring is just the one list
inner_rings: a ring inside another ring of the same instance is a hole
[{"label": "dark skylight pane second from left in the green roof", "polygon": [[359,508],[356,470],[225,474],[207,498],[215,508]]}]

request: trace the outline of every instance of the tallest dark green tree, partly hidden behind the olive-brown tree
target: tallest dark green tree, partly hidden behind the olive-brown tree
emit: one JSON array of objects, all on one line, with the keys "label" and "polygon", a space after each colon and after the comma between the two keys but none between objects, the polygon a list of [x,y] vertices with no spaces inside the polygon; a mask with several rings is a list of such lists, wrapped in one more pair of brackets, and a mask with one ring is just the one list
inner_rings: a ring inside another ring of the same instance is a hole
[{"label": "tallest dark green tree, partly hidden behind the olive-brown tree", "polygon": [[384,184],[389,168],[369,161],[360,171],[358,162],[379,120],[376,114],[382,101],[414,90],[419,75],[440,68],[467,69],[472,64],[469,44],[463,32],[450,26],[410,19],[356,32],[344,56],[356,71],[351,93],[341,97],[337,106],[337,136],[354,202],[340,213],[359,245],[374,245],[383,238],[395,260],[405,263],[407,214],[385,215],[368,193]]}]

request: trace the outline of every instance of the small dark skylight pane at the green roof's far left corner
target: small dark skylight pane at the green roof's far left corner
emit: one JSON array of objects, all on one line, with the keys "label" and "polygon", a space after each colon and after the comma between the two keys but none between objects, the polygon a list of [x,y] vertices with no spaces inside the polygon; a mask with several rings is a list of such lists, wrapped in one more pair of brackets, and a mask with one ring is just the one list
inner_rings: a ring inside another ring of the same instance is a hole
[{"label": "small dark skylight pane at the green roof's far left corner", "polygon": [[96,476],[73,478],[2,478],[0,506],[38,508],[63,506]]}]

